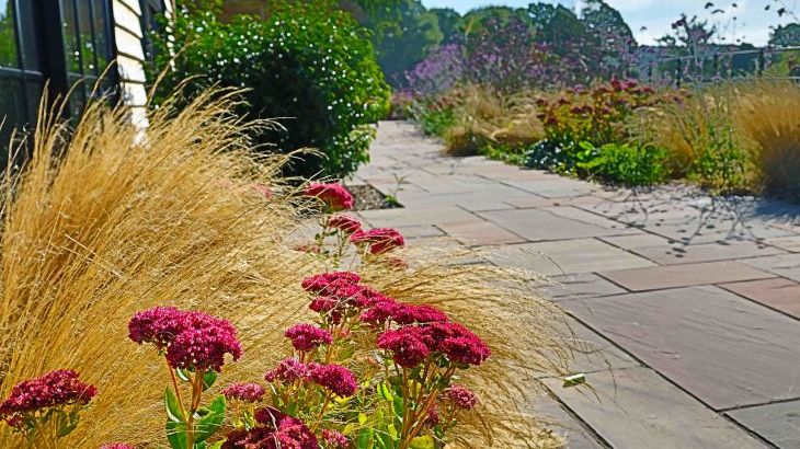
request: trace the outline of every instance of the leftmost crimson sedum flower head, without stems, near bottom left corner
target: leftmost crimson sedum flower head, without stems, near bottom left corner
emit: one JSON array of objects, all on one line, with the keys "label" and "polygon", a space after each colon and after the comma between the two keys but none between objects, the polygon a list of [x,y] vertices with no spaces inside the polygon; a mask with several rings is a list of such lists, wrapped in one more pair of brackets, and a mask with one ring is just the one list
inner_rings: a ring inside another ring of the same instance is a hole
[{"label": "leftmost crimson sedum flower head, without stems, near bottom left corner", "polygon": [[23,425],[22,414],[43,408],[88,404],[98,394],[98,389],[78,379],[78,372],[59,369],[34,379],[22,381],[11,389],[0,404],[0,417],[10,425]]}]

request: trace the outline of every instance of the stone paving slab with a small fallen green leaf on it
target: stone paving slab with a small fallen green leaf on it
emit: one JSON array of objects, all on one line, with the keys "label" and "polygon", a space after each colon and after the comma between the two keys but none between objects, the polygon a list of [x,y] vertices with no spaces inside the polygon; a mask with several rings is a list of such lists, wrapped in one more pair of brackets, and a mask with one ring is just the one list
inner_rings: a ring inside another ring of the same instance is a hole
[{"label": "stone paving slab with a small fallen green leaf on it", "polygon": [[590,378],[588,389],[546,384],[618,449],[756,449],[766,445],[662,379],[649,368]]}]

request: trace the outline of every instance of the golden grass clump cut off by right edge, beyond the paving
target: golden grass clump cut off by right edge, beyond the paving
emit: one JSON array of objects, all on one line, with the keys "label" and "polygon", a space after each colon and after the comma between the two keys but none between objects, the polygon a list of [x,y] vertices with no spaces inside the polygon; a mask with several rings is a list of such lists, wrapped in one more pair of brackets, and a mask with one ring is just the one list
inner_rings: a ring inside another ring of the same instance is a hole
[{"label": "golden grass clump cut off by right edge, beyond the paving", "polygon": [[800,88],[791,82],[757,82],[742,90],[733,119],[755,142],[753,160],[764,188],[800,195]]}]

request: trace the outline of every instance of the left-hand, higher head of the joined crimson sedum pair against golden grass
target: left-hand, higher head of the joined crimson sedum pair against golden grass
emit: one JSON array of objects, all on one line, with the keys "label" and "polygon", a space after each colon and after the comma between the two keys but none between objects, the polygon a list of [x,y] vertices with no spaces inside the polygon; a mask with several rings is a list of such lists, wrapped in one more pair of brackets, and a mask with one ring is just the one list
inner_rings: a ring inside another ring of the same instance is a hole
[{"label": "left-hand, higher head of the joined crimson sedum pair against golden grass", "polygon": [[183,331],[185,315],[185,312],[173,307],[155,307],[136,312],[128,322],[128,336],[135,343],[152,343],[159,350],[164,350]]}]

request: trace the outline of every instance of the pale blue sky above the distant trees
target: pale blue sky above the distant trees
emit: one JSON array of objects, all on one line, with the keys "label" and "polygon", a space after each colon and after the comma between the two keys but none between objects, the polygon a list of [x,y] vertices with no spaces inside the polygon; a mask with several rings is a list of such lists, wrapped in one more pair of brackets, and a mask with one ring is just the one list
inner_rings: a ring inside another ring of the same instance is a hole
[{"label": "pale blue sky above the distant trees", "polygon": [[[579,8],[581,0],[542,0],[550,3],[561,3],[568,8]],[[782,3],[788,10],[800,15],[800,0],[708,0],[713,7],[705,9],[707,0],[606,0],[606,3],[616,8],[625,21],[630,25],[633,35],[640,44],[652,45],[655,38],[667,34],[670,24],[676,21],[681,13],[688,16],[697,15],[708,19],[725,36],[725,43],[743,39],[754,45],[764,45],[769,39],[769,25],[786,24],[796,21],[789,14],[778,18],[776,10]],[[427,8],[453,8],[461,13],[472,8],[485,5],[526,7],[532,0],[422,0]],[[733,4],[736,7],[733,8]],[[770,5],[769,11],[764,7]],[[721,9],[724,12],[712,11]],[[733,18],[736,18],[733,20]]]}]

